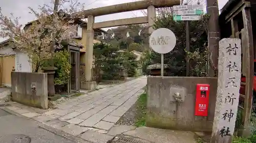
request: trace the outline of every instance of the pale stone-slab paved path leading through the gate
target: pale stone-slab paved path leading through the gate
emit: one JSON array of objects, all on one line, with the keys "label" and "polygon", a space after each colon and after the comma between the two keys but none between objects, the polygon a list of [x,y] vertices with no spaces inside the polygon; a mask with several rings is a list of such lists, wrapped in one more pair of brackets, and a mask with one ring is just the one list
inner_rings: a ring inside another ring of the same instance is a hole
[{"label": "pale stone-slab paved path leading through the gate", "polygon": [[7,107],[28,118],[81,138],[107,135],[120,117],[144,92],[146,77],[140,77],[112,88],[90,92],[63,102],[56,109],[38,113],[17,106]]}]

